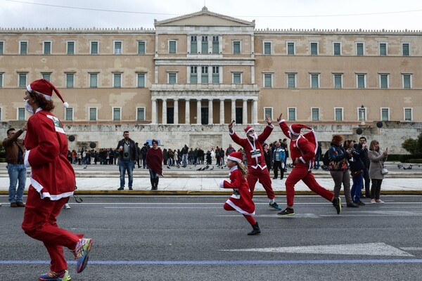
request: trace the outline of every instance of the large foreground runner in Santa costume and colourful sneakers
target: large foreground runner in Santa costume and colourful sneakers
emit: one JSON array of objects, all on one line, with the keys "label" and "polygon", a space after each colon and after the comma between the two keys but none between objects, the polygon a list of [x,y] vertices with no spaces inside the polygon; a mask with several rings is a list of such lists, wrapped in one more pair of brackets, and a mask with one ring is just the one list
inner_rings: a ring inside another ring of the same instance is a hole
[{"label": "large foreground runner in Santa costume and colourful sneakers", "polygon": [[25,91],[25,108],[32,114],[25,136],[25,166],[32,171],[22,228],[27,235],[43,242],[50,255],[50,271],[39,275],[39,280],[70,280],[63,247],[74,254],[80,273],[87,266],[92,240],[59,228],[56,223],[56,217],[75,190],[75,171],[66,159],[68,139],[63,125],[51,114],[53,91],[67,107],[56,87],[45,79],[33,81]]}]

